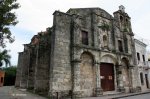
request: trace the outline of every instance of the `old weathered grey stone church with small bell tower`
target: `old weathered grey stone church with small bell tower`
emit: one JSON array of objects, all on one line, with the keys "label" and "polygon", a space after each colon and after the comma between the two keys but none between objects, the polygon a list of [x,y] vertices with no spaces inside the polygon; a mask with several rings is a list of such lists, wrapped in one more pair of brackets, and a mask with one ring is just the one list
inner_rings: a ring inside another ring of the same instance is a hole
[{"label": "old weathered grey stone church with small bell tower", "polygon": [[19,53],[16,87],[54,97],[137,92],[134,34],[123,6],[55,11],[53,26]]}]

